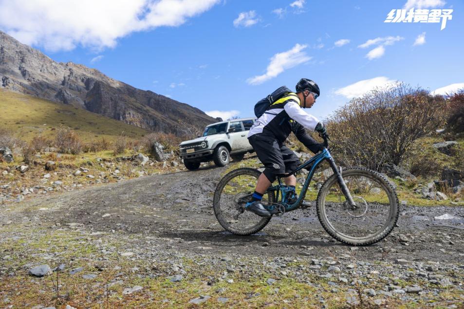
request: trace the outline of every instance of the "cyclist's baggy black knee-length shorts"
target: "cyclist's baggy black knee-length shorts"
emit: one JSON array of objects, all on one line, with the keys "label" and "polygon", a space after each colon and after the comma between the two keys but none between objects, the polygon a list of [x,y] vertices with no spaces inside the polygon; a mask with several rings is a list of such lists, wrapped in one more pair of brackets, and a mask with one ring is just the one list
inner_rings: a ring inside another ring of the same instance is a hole
[{"label": "cyclist's baggy black knee-length shorts", "polygon": [[248,141],[264,164],[263,173],[270,182],[274,182],[277,175],[283,176],[295,170],[300,164],[295,153],[274,137],[254,134],[248,138]]}]

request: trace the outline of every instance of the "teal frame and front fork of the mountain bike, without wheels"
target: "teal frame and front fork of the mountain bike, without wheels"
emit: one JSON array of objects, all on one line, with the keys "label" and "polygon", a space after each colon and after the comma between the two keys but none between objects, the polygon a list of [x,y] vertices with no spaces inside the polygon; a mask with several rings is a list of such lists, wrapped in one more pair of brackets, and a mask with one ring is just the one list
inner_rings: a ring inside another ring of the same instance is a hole
[{"label": "teal frame and front fork of the mountain bike, without wheels", "polygon": [[[294,175],[295,173],[297,173],[301,169],[313,164],[313,166],[311,167],[311,169],[309,171],[308,176],[306,177],[306,180],[305,180],[305,182],[303,184],[303,188],[301,189],[301,192],[300,192],[300,194],[298,196],[297,201],[295,203],[293,203],[293,204],[283,204],[282,203],[282,205],[285,207],[286,212],[287,211],[292,211],[292,210],[295,210],[295,209],[299,208],[301,202],[303,201],[304,197],[306,196],[306,191],[308,190],[309,183],[313,179],[314,172],[316,171],[317,166],[324,160],[328,161],[330,166],[332,167],[332,170],[334,171],[334,174],[337,177],[338,184],[340,185],[340,188],[341,188],[343,194],[345,195],[346,200],[350,203],[352,208],[356,207],[356,205],[355,205],[355,203],[353,201],[353,198],[352,198],[352,196],[350,194],[350,191],[348,190],[345,182],[343,181],[341,168],[340,168],[340,170],[338,170],[338,168],[337,168],[337,166],[335,164],[334,158],[332,158],[332,155],[329,152],[329,149],[324,148],[320,153],[316,154],[310,160],[308,160],[304,164],[301,164],[295,170],[291,171],[288,175],[286,175],[286,177],[288,177],[290,175]],[[277,177],[278,185],[269,187],[269,189],[267,190],[267,192],[277,191],[276,200],[278,200],[278,195],[279,195],[280,189],[285,186],[284,184],[282,184],[281,178],[282,178],[282,176]]]}]

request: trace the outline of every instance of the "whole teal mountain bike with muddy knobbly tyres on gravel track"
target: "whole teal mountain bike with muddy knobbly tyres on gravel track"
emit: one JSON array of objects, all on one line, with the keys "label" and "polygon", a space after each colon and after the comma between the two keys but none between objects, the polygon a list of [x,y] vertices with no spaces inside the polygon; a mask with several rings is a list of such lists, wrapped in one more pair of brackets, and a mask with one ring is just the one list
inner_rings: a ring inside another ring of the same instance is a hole
[{"label": "whole teal mountain bike with muddy knobbly tyres on gravel track", "polygon": [[251,235],[262,230],[273,216],[307,208],[303,200],[317,166],[325,161],[334,173],[320,186],[316,198],[317,217],[324,230],[338,241],[358,246],[370,245],[388,236],[399,215],[393,185],[384,175],[367,168],[338,167],[328,149],[329,137],[322,138],[323,150],[285,175],[295,175],[304,168],[309,171],[294,203],[288,201],[288,189],[281,179],[284,175],[277,177],[277,184],[271,184],[265,192],[262,204],[272,214],[270,218],[245,210],[260,171],[244,167],[226,174],[218,183],[213,200],[214,214],[221,226],[236,235]]}]

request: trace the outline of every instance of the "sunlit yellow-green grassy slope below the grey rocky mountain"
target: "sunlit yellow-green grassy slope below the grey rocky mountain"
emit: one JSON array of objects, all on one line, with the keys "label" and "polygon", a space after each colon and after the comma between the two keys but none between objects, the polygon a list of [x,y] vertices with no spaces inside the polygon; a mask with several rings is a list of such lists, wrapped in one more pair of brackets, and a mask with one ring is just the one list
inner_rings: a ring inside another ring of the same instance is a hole
[{"label": "sunlit yellow-green grassy slope below the grey rocky mountain", "polygon": [[121,134],[140,138],[150,132],[85,109],[5,90],[0,90],[0,109],[0,126],[25,141],[38,134],[52,138],[60,126],[70,127],[86,142],[96,137],[114,140]]}]

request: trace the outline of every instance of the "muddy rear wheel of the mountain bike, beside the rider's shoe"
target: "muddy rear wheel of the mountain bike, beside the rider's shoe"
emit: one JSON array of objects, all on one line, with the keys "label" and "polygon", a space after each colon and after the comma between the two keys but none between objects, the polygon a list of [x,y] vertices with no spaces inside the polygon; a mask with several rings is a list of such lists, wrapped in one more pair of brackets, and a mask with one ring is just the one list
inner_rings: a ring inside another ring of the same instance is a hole
[{"label": "muddy rear wheel of the mountain bike, beside the rider's shoe", "polygon": [[[271,218],[262,218],[245,210],[245,204],[255,191],[260,172],[252,168],[231,171],[218,183],[214,192],[213,209],[221,226],[236,235],[251,235],[262,230]],[[274,192],[263,196],[264,202],[275,202]]]}]

